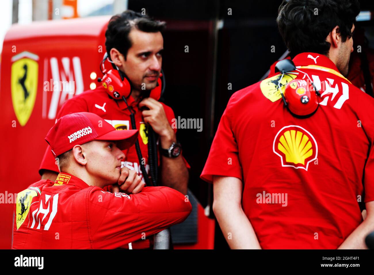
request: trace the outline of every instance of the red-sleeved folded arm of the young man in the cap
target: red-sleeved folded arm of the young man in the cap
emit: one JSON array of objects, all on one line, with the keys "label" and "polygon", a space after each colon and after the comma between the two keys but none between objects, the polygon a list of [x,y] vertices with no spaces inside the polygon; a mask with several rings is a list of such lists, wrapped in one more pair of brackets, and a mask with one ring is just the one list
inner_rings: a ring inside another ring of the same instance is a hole
[{"label": "red-sleeved folded arm of the young man in the cap", "polygon": [[[97,187],[94,187],[95,189]],[[117,238],[125,243],[145,238],[184,221],[191,203],[169,187],[144,187],[135,195],[93,190],[88,198],[93,241]]]}]

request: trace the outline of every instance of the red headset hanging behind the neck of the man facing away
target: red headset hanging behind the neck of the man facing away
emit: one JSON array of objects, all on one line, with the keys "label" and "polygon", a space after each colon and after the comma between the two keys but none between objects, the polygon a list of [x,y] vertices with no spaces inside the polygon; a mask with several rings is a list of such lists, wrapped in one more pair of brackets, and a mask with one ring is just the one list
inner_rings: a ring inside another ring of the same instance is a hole
[{"label": "red headset hanging behind the neck of the man facing away", "polygon": [[[275,65],[275,71],[282,73],[279,85],[281,85],[282,77],[288,75],[291,71],[300,71],[295,67],[294,62],[290,59],[283,59]],[[303,73],[302,71],[300,71]],[[307,75],[307,74],[306,74]],[[308,76],[308,75],[307,75]],[[304,79],[293,79],[286,84],[284,92],[281,91],[282,99],[292,116],[297,118],[307,118],[315,114],[318,109],[319,91],[309,78],[312,86],[309,87]],[[279,87],[280,88],[280,87]]]}]

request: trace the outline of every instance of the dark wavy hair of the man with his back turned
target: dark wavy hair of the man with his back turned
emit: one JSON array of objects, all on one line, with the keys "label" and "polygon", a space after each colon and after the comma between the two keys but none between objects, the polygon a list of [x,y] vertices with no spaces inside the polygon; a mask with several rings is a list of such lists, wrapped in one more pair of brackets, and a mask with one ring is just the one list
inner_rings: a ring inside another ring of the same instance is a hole
[{"label": "dark wavy hair of the man with his back turned", "polygon": [[283,0],[277,23],[291,56],[301,52],[327,55],[328,34],[338,26],[346,42],[359,12],[358,0]]}]

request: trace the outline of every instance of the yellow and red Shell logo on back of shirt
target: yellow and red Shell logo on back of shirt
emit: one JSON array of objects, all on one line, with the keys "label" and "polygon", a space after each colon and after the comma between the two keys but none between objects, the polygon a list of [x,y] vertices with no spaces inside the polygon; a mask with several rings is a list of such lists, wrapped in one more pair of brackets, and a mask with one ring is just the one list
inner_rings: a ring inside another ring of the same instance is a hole
[{"label": "yellow and red Shell logo on back of shirt", "polygon": [[310,162],[317,159],[318,146],[310,132],[301,126],[289,125],[276,134],[273,152],[281,158],[283,167],[301,168],[308,171]]}]

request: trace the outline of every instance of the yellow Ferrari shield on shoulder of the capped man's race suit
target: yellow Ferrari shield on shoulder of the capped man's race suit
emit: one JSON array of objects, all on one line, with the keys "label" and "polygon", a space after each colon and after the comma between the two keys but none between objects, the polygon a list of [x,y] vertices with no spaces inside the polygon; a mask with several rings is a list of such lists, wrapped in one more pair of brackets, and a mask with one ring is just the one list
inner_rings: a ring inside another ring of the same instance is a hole
[{"label": "yellow Ferrari shield on shoulder of the capped man's race suit", "polygon": [[40,195],[40,190],[37,187],[30,187],[29,189],[23,190],[17,194],[16,202],[16,225],[17,229],[25,221],[30,205],[35,196]]}]

